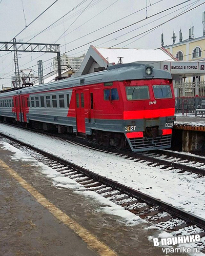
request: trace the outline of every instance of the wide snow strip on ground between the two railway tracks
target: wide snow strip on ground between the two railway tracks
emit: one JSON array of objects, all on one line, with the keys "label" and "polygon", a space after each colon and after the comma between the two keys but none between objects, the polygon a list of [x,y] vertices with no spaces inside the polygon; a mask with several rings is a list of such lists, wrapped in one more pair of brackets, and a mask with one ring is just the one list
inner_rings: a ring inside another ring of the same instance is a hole
[{"label": "wide snow strip on ground between the two railway tracks", "polygon": [[135,163],[5,124],[0,124],[0,132],[205,219],[205,178],[197,178],[197,174]]}]

